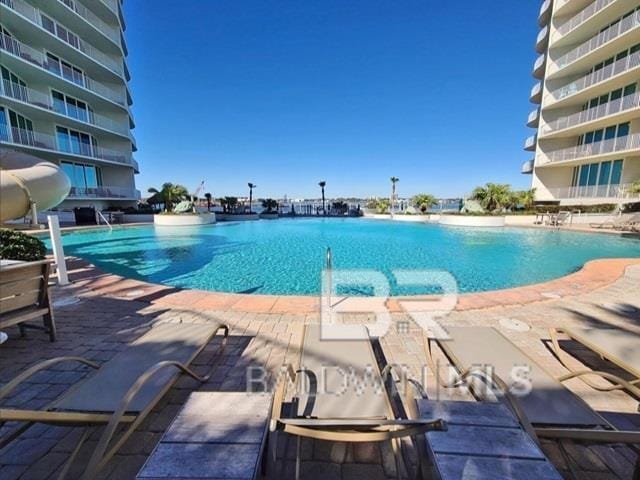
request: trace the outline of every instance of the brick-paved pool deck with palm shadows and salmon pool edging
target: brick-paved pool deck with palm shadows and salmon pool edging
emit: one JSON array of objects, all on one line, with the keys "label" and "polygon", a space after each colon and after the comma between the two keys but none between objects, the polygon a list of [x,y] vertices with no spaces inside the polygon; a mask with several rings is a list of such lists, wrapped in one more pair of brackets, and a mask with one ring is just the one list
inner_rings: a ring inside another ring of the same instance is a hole
[{"label": "brick-paved pool deck with palm shadows and salmon pool edging", "polygon": [[[72,284],[52,288],[59,340],[50,343],[46,335],[37,331],[29,331],[21,338],[17,328],[8,329],[9,340],[0,346],[0,385],[30,365],[61,355],[107,361],[155,322],[216,320],[231,328],[229,348],[212,378],[203,385],[180,379],[99,478],[135,478],[192,391],[244,391],[248,367],[263,366],[275,374],[283,363],[295,364],[302,325],[319,320],[319,301],[313,297],[176,290],[107,274],[77,259],[71,260],[69,267]],[[365,313],[366,303],[362,303],[362,313],[352,314],[347,320],[371,321],[371,315]],[[424,369],[419,327],[403,313],[398,299],[390,300],[387,306],[393,324],[380,341],[387,361],[406,366],[417,378],[424,373],[430,398],[442,397],[444,394],[435,388],[432,373]],[[514,321],[530,328],[512,329]],[[455,310],[441,323],[496,327],[552,374],[561,375],[566,370],[545,343],[550,327],[615,326],[640,334],[640,259],[598,260],[589,262],[575,274],[544,284],[462,295]],[[214,342],[196,359],[198,372],[206,371],[215,358],[216,347]],[[574,367],[587,365],[620,374],[583,348],[572,345],[570,351],[575,358]],[[438,357],[442,359],[440,354]],[[86,374],[83,367],[57,366],[33,377],[3,405],[42,407]],[[580,380],[571,380],[566,385],[614,424],[640,430],[638,399],[621,391],[599,392]],[[465,391],[450,395],[471,399]],[[0,435],[5,431],[0,429]],[[79,434],[78,429],[68,427],[32,427],[0,450],[0,478],[56,478]],[[96,442],[94,433],[80,452],[80,463],[86,464]],[[587,447],[565,441],[562,447],[571,462],[566,461],[557,443],[543,443],[545,453],[566,478],[571,478],[573,470],[573,475],[580,479],[630,479],[637,461],[636,453],[623,446]],[[287,439],[279,445],[283,478],[292,478],[294,448],[295,442]],[[413,452],[407,450],[411,459]],[[391,449],[386,444],[305,441],[302,458],[303,478],[374,480],[395,475]],[[72,477],[77,473],[74,469]]]}]

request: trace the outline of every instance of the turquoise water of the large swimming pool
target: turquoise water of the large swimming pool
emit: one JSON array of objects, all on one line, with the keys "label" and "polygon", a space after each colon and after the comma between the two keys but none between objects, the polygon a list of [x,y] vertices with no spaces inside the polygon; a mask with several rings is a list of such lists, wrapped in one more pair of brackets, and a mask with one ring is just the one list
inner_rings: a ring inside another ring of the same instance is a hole
[{"label": "turquoise water of the large swimming pool", "polygon": [[[154,227],[66,234],[65,253],[152,283],[237,293],[315,295],[327,247],[335,269],[384,274],[392,295],[431,293],[399,286],[394,270],[439,269],[461,292],[538,283],[596,258],[640,257],[640,241],[538,229],[440,227],[365,219],[281,219],[203,227]],[[367,288],[344,292],[370,294]]]}]

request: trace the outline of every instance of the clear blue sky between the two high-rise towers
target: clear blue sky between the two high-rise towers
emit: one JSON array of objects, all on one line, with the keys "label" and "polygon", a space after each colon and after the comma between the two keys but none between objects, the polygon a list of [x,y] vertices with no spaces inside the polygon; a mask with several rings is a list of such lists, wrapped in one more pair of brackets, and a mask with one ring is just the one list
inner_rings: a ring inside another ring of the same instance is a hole
[{"label": "clear blue sky between the two high-rise towers", "polygon": [[460,196],[519,173],[540,2],[129,0],[138,188]]}]

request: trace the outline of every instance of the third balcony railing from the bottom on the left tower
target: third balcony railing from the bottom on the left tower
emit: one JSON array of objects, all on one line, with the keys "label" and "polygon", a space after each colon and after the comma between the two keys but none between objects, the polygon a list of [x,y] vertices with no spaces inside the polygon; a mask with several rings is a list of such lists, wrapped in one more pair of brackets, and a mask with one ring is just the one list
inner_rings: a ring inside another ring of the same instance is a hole
[{"label": "third balcony railing from the bottom on the left tower", "polygon": [[129,135],[128,120],[126,121],[126,124],[124,122],[116,122],[108,117],[105,117],[104,115],[100,115],[99,113],[94,113],[89,110],[83,110],[79,108],[75,108],[69,111],[67,111],[67,109],[65,108],[65,111],[61,111],[60,108],[56,108],[53,100],[49,95],[46,95],[32,88],[23,87],[22,85],[11,82],[9,80],[2,80],[2,82],[0,82],[0,95],[10,97],[14,100],[28,103],[36,107],[51,110],[52,112],[55,112],[59,115],[73,118],[74,120],[88,123],[90,125],[95,125],[96,127],[104,128],[121,135]]}]

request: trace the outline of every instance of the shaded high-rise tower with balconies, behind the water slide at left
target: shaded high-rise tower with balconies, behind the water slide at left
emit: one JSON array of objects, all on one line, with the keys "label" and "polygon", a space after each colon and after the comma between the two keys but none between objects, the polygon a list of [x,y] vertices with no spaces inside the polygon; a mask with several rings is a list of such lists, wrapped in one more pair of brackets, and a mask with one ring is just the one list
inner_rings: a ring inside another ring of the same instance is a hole
[{"label": "shaded high-rise tower with balconies, behind the water slide at left", "polygon": [[121,0],[0,0],[0,148],[60,165],[62,208],[140,198]]}]

